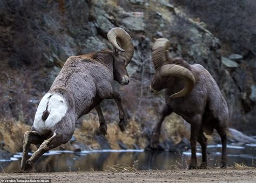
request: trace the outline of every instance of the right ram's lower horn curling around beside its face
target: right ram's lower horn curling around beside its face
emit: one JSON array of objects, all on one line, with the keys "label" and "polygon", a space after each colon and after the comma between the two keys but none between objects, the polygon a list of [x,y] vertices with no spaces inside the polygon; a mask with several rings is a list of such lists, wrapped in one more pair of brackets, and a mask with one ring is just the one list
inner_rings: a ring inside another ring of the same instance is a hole
[{"label": "right ram's lower horn curling around beside its face", "polygon": [[170,96],[170,98],[177,98],[183,97],[194,87],[195,78],[194,74],[188,70],[186,67],[176,64],[166,64],[161,67],[160,69],[160,76],[167,77],[167,76],[174,76],[179,77],[184,80],[184,88],[177,93],[174,93]]}]

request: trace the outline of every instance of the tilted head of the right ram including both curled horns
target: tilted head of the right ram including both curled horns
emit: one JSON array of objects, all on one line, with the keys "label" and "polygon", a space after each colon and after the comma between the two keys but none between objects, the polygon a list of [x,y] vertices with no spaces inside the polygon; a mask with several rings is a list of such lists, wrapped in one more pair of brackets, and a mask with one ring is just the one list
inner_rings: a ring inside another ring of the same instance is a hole
[{"label": "tilted head of the right ram including both curled horns", "polygon": [[170,97],[183,97],[193,89],[195,78],[187,62],[181,58],[169,58],[170,45],[169,40],[159,38],[152,47],[152,62],[156,73],[150,85],[150,90],[158,93],[160,90],[171,87],[173,79],[178,77],[183,79],[184,88]]}]

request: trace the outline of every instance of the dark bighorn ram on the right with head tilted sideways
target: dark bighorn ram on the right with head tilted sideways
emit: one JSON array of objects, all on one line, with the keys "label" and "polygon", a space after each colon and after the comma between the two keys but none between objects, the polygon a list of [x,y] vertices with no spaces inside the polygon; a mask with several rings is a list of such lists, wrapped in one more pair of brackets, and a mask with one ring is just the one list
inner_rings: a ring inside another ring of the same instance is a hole
[{"label": "dark bighorn ram on the right with head tilted sideways", "polygon": [[215,128],[221,137],[221,167],[226,167],[226,141],[228,108],[218,85],[211,74],[199,64],[188,64],[182,58],[169,58],[169,40],[157,39],[152,48],[152,61],[156,74],[150,85],[154,93],[164,90],[165,106],[160,120],[152,133],[151,146],[157,148],[161,124],[172,112],[179,114],[191,124],[191,162],[196,168],[196,144],[202,148],[200,168],[207,167],[207,138],[204,132],[212,134]]}]

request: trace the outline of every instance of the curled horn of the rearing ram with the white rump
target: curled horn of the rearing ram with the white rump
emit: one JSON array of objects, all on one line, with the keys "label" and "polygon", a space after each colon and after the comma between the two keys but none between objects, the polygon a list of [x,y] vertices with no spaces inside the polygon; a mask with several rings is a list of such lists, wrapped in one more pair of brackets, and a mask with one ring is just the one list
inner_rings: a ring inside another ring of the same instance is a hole
[{"label": "curled horn of the rearing ram with the white rump", "polygon": [[130,35],[121,28],[113,28],[107,33],[107,39],[114,46],[114,49],[120,51],[119,56],[125,58],[127,66],[133,57],[134,46]]}]

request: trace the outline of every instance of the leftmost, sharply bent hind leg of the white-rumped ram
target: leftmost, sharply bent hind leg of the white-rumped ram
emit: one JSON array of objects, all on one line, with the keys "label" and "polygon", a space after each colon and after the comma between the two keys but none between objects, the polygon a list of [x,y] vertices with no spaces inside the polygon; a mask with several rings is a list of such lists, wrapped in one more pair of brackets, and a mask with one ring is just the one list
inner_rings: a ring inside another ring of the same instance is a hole
[{"label": "leftmost, sharply bent hind leg of the white-rumped ram", "polygon": [[21,169],[24,170],[25,162],[28,159],[29,146],[30,144],[42,144],[44,138],[37,131],[28,131],[25,132],[23,138],[23,153],[22,153],[22,161],[21,161]]}]

